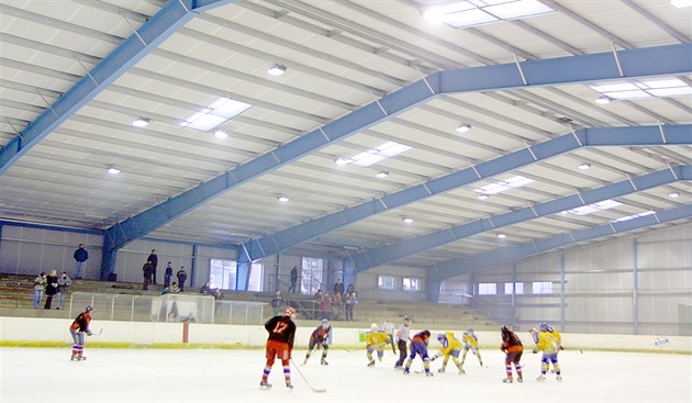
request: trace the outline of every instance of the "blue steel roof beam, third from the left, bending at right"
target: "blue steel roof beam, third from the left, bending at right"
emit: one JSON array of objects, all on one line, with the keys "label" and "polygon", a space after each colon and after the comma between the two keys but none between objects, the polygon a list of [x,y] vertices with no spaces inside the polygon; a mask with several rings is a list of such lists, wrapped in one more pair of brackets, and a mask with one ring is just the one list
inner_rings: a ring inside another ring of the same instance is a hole
[{"label": "blue steel roof beam, third from the left, bending at right", "polygon": [[[432,179],[425,183],[342,210],[337,213],[249,240],[245,244],[244,250],[249,254],[252,260],[257,260],[373,214],[401,208],[405,204],[581,147],[692,144],[692,125],[665,126],[663,133],[662,135],[659,126],[582,128],[574,133],[563,134],[547,142],[491,159],[475,167]],[[378,251],[372,254],[378,254]],[[354,256],[357,258],[362,256],[362,258],[369,260],[369,256],[362,254]],[[382,259],[375,258],[372,260],[382,261]],[[356,264],[356,267],[361,271],[365,270],[362,267],[366,265],[368,267],[376,266],[360,262]]]}]

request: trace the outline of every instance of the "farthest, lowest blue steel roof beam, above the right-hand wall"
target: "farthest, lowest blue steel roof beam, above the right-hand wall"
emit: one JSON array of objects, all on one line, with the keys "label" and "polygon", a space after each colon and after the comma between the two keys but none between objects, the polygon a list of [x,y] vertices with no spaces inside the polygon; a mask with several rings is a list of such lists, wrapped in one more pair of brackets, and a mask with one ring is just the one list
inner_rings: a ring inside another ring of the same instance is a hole
[{"label": "farthest, lowest blue steel roof beam, above the right-hand wall", "polygon": [[689,220],[691,217],[692,204],[687,204],[643,217],[560,234],[521,246],[498,248],[466,259],[446,261],[444,264],[434,265],[429,270],[427,270],[427,273],[433,282],[439,282],[456,276],[490,269],[571,244],[598,239],[609,235],[622,234],[673,221]]}]

